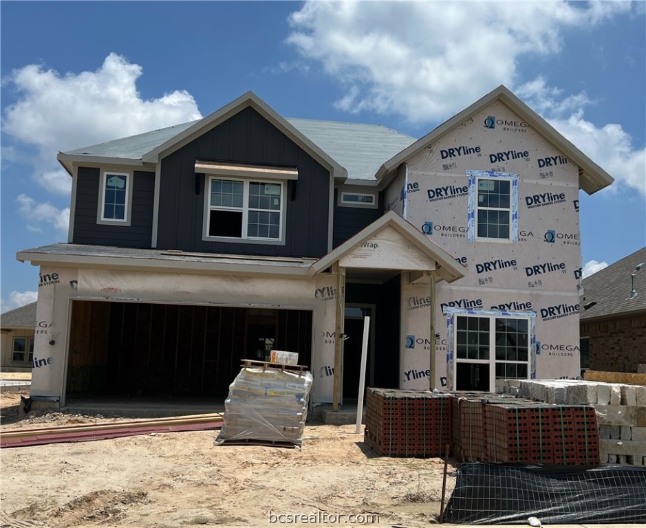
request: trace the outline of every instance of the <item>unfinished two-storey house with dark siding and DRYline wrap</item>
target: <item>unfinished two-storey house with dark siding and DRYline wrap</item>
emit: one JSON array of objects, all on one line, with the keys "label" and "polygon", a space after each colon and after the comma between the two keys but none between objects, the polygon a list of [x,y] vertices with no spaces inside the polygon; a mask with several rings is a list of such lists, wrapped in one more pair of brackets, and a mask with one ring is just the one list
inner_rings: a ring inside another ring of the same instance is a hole
[{"label": "unfinished two-storey house with dark siding and DRYline wrap", "polygon": [[612,177],[505,87],[417,141],[248,93],[58,160],[68,242],[17,254],[41,266],[34,395],[226,395],[279,349],[338,403],[367,315],[369,386],[579,375],[579,189]]}]

